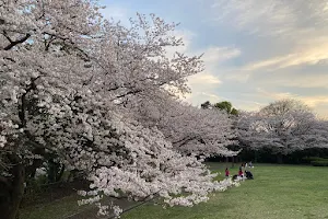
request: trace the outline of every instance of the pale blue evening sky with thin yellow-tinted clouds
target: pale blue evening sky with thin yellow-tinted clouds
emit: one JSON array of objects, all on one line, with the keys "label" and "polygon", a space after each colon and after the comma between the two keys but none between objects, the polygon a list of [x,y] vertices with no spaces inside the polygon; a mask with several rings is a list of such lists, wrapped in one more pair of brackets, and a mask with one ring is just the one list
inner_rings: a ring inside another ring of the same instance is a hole
[{"label": "pale blue evening sky with thin yellow-tinted clouds", "polygon": [[185,100],[230,101],[256,111],[296,99],[328,118],[328,1],[325,0],[101,0],[102,12],[129,24],[155,13],[180,23],[178,51],[203,54],[206,69],[189,78]]}]

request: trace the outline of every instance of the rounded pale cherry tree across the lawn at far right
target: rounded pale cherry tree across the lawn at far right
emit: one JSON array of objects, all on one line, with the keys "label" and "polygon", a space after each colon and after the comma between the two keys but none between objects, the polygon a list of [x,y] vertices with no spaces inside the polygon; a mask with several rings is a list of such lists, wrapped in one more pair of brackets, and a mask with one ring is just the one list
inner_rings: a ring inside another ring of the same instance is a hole
[{"label": "rounded pale cherry tree across the lawn at far right", "polygon": [[[242,113],[238,135],[242,145],[253,149],[270,148],[280,158],[296,150],[315,147],[318,120],[301,102],[283,100],[259,112]],[[316,137],[315,137],[316,136]]]}]

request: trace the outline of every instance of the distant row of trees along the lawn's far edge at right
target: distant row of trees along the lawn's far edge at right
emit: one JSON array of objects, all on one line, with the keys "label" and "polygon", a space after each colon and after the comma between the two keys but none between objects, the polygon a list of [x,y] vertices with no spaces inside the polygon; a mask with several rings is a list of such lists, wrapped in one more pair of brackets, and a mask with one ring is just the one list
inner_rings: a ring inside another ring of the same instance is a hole
[{"label": "distant row of trees along the lawn's far edge at right", "polygon": [[227,101],[215,104],[207,101],[201,108],[219,108],[233,115],[230,117],[238,143],[230,148],[242,150],[241,158],[249,160],[261,154],[266,157],[263,161],[276,159],[281,163],[283,158],[296,157],[291,158],[292,162],[301,162],[308,154],[324,155],[318,153],[328,149],[328,122],[296,100],[276,101],[257,112],[237,111]]}]

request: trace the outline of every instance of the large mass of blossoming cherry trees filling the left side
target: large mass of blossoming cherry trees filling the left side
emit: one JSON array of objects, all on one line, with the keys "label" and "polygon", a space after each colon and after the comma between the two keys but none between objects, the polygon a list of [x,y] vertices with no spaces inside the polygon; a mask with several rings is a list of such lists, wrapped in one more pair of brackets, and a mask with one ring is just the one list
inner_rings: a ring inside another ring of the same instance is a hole
[{"label": "large mass of blossoming cherry trees filling the left side", "polygon": [[[13,219],[24,185],[45,163],[82,171],[101,198],[160,195],[190,206],[232,184],[201,163],[235,155],[233,119],[176,96],[200,57],[166,48],[176,24],[138,14],[129,27],[107,21],[93,0],[0,0],[0,211]],[[200,159],[200,160],[199,160]],[[57,177],[57,176],[56,176]],[[177,196],[177,194],[180,194]]]}]

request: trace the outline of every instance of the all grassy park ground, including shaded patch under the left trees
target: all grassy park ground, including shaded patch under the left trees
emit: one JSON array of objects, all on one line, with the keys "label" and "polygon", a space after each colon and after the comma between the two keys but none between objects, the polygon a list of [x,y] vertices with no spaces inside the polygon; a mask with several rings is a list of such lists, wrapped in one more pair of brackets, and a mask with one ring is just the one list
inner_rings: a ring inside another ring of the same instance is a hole
[{"label": "all grassy park ground, including shaded patch under the left trees", "polygon": [[[224,175],[225,163],[208,163]],[[121,216],[122,219],[328,219],[328,168],[306,165],[257,164],[251,169],[255,180],[242,183],[210,200],[194,207],[163,209],[153,203],[142,205]],[[92,219],[91,206],[78,207],[75,195],[21,210],[22,219]],[[129,208],[136,204],[127,204]],[[96,218],[96,217],[94,217]]]}]

